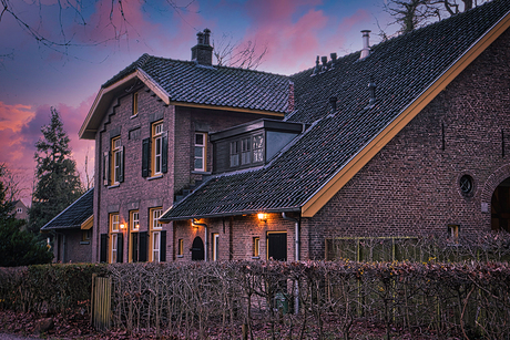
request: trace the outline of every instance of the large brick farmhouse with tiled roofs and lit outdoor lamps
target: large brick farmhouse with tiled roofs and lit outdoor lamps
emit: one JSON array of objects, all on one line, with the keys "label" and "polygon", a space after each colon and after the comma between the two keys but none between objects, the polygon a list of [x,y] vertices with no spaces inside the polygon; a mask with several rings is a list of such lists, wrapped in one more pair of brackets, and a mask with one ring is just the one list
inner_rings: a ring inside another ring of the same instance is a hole
[{"label": "large brick farmhouse with tiled roofs and lit outdoor lamps", "polygon": [[509,231],[509,27],[494,0],[377,45],[364,31],[361,51],[290,76],[214,65],[208,30],[192,61],[142,55],[80,130],[90,260],[324,259],[334,238]]}]

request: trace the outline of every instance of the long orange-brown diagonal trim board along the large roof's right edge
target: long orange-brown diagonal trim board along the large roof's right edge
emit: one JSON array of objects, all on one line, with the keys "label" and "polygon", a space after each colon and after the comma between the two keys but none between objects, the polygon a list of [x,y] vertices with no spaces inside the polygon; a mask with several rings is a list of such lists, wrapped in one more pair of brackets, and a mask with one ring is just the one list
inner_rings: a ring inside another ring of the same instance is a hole
[{"label": "long orange-brown diagonal trim board along the large roof's right edge", "polygon": [[421,110],[450,84],[475,59],[498,37],[510,28],[507,13],[492,29],[483,34],[470,49],[450,65],[432,84],[412,101],[390,124],[379,132],[363,150],[354,155],[336,174],[324,184],[302,207],[303,217],[314,215],[338,193],[386,144],[391,141]]}]

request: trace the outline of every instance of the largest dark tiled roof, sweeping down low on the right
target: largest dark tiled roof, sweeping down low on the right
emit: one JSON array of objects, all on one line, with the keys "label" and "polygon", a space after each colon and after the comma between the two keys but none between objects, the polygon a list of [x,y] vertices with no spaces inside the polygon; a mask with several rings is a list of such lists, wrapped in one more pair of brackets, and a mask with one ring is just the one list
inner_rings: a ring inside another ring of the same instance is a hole
[{"label": "largest dark tiled roof, sweeping down low on the right", "polygon": [[[164,213],[162,220],[300,210],[333,176],[510,10],[494,0],[462,14],[338,60],[312,76],[292,75],[296,111],[289,121],[313,123],[268,165],[212,177]],[[377,84],[369,106],[368,83]],[[337,96],[337,110],[329,97]]]}]

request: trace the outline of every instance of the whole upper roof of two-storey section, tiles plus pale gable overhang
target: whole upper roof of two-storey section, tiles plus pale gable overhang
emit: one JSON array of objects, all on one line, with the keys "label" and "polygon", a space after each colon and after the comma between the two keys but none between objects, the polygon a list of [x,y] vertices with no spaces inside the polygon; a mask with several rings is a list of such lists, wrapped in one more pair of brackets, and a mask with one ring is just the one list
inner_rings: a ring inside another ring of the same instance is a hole
[{"label": "whole upper roof of two-storey section, tiles plus pale gable overhang", "polygon": [[143,54],[101,86],[80,128],[81,138],[94,138],[110,101],[121,86],[135,79],[166,104],[207,105],[282,117],[292,107],[286,75]]}]

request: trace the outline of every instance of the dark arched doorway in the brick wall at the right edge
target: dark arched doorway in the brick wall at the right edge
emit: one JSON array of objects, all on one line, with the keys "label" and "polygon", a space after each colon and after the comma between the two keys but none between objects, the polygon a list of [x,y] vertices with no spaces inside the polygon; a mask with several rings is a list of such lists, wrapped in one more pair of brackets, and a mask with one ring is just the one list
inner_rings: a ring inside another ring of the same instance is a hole
[{"label": "dark arched doorway in the brick wall at the right edge", "polygon": [[510,177],[501,182],[490,202],[492,230],[510,231]]}]

